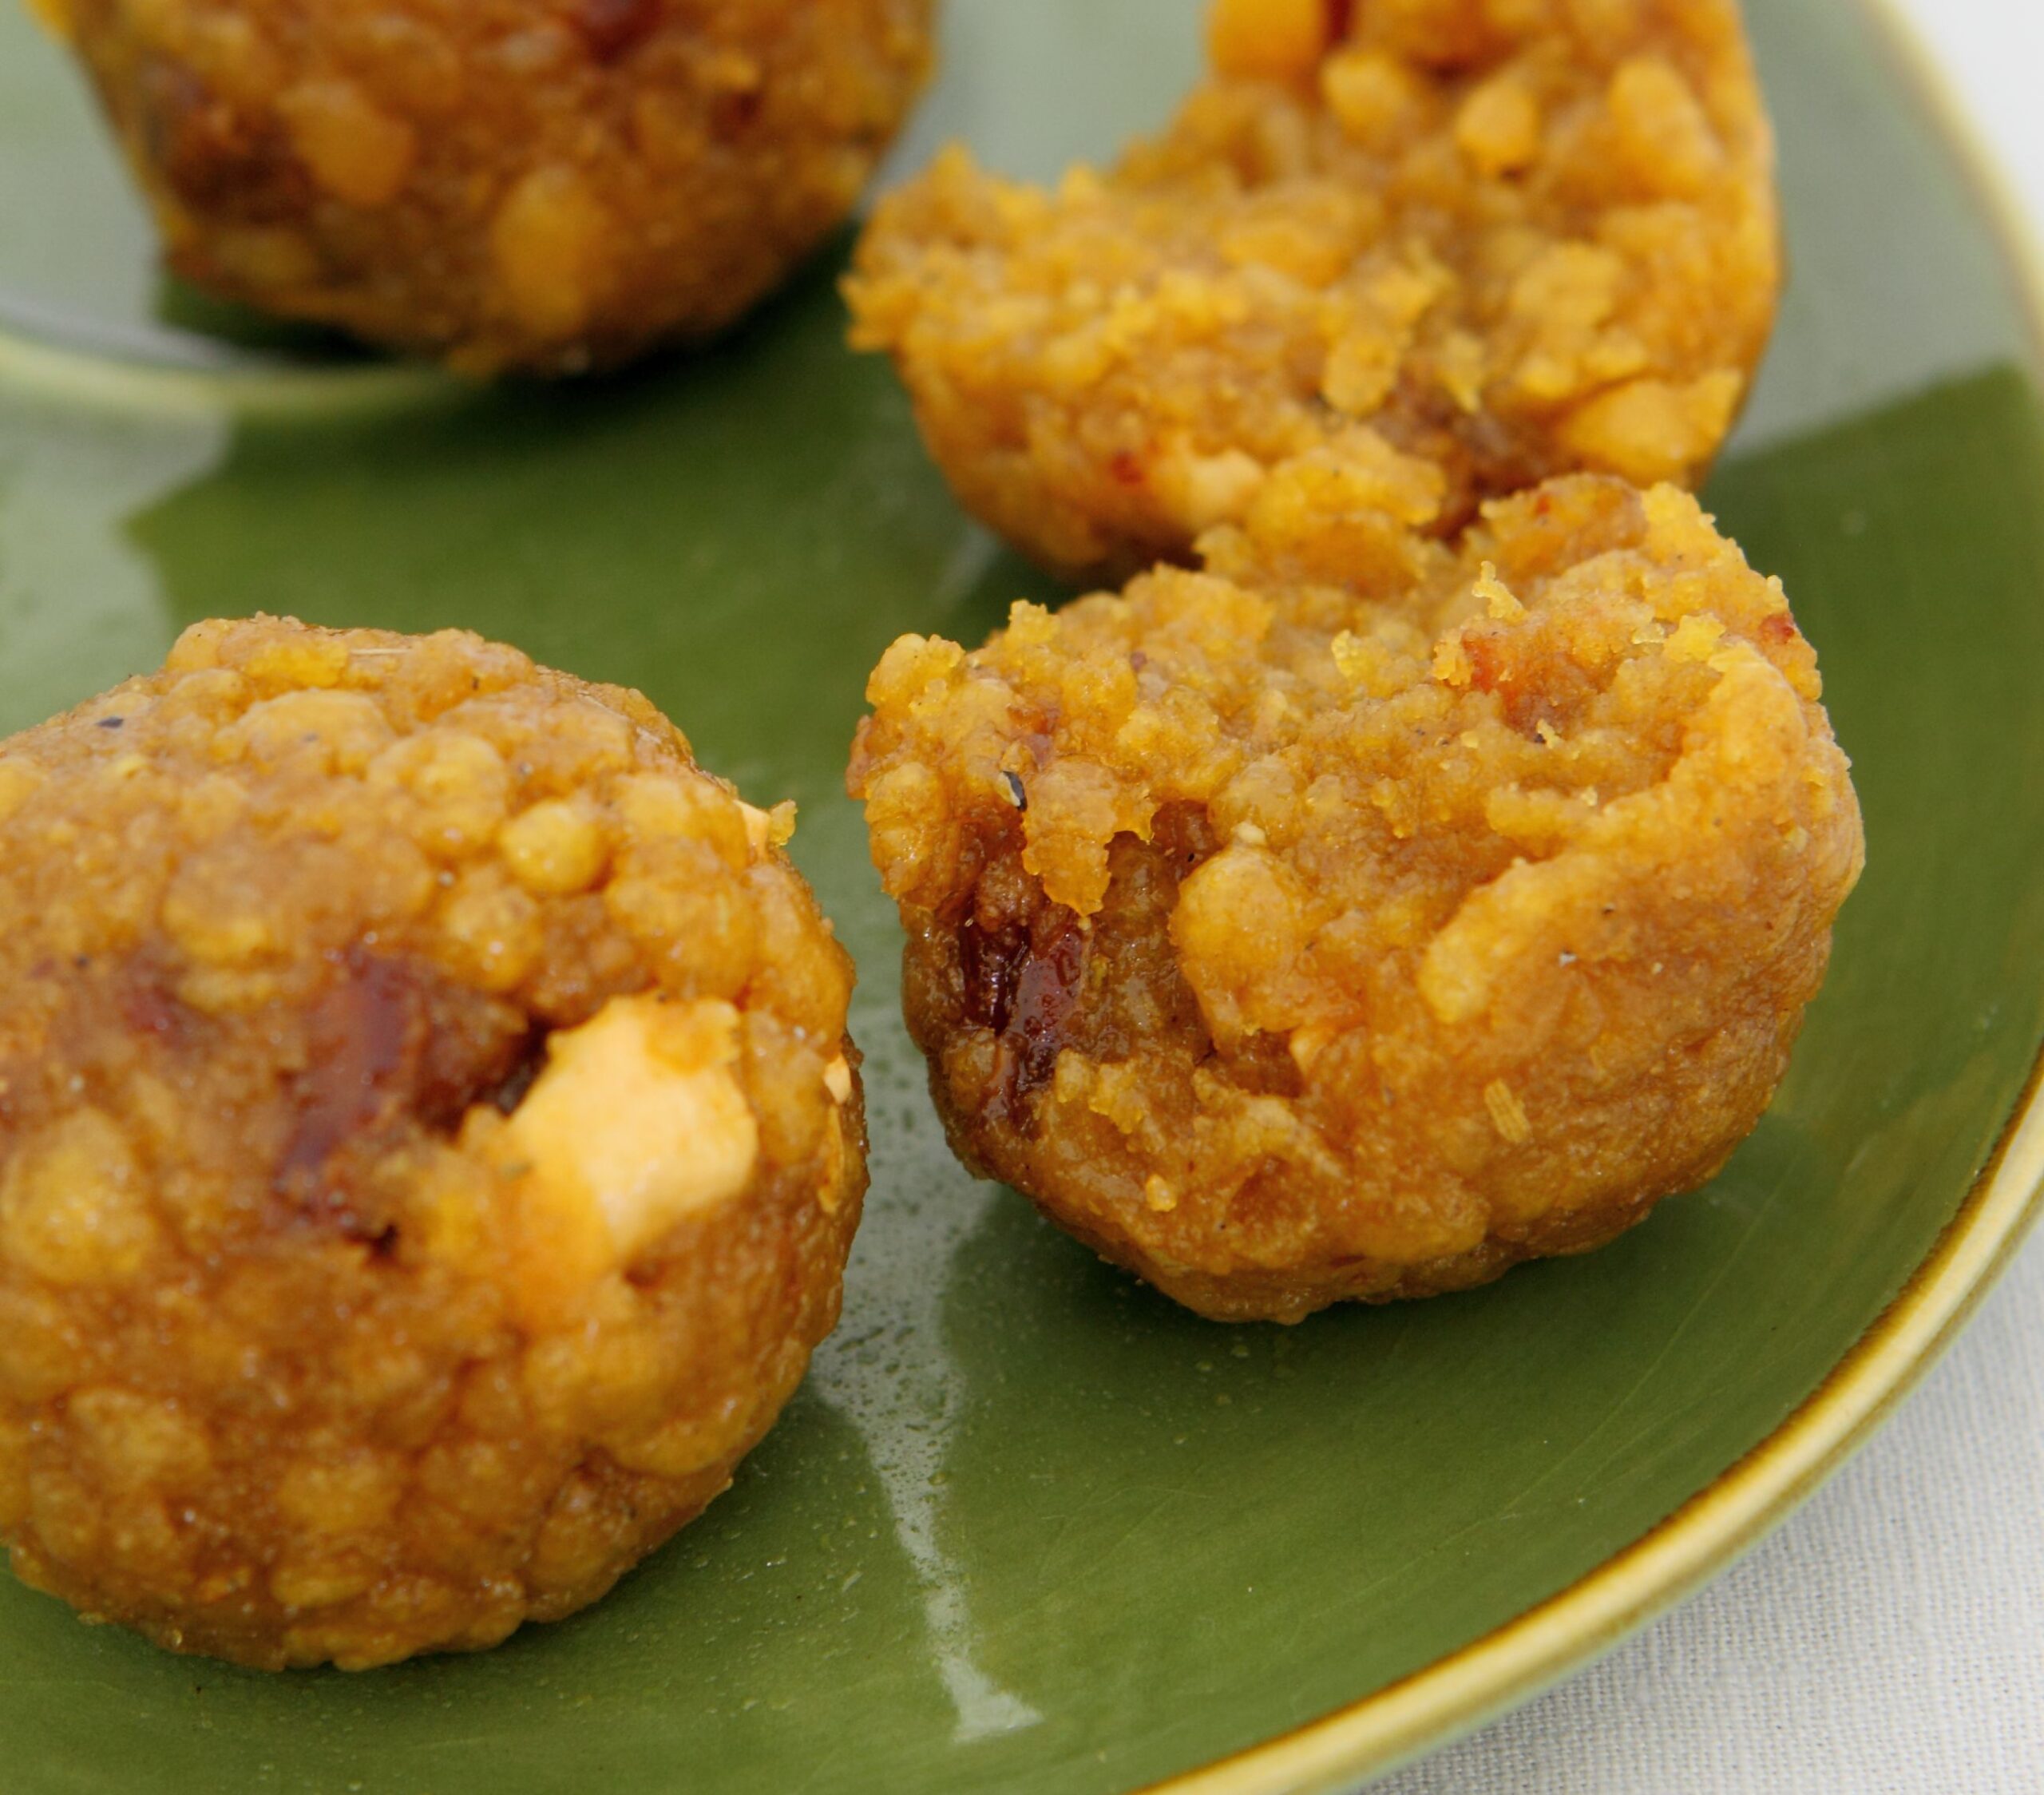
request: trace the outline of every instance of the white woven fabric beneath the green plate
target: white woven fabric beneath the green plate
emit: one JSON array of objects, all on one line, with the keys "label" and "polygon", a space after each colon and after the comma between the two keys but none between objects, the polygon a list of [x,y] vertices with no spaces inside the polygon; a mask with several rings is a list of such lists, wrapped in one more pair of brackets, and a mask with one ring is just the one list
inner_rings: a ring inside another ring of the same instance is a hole
[{"label": "white woven fabric beneath the green plate", "polygon": [[[1897,10],[2044,241],[2044,0]],[[2044,1239],[1752,1558],[1374,1795],[2044,1795]]]}]

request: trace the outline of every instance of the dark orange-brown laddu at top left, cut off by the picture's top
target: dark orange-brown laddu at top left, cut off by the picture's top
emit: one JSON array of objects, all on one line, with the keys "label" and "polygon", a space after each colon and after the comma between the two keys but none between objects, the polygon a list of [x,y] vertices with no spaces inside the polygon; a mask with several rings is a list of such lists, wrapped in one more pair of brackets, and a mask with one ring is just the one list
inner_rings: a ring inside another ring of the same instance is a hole
[{"label": "dark orange-brown laddu at top left, cut off by the picture's top", "polygon": [[930,0],[37,0],[184,278],[576,372],[722,329],[852,211]]}]

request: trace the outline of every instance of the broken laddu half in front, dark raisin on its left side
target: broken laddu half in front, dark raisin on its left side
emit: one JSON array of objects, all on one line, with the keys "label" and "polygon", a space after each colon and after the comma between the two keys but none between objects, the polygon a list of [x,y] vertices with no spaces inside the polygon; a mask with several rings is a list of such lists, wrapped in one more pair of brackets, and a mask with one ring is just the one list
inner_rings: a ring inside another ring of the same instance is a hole
[{"label": "broken laddu half in front, dark raisin on its left side", "polygon": [[1570,476],[1459,550],[1337,456],[873,677],[850,787],[953,1145],[1216,1319],[1457,1290],[1719,1169],[1864,842],[1780,583]]}]

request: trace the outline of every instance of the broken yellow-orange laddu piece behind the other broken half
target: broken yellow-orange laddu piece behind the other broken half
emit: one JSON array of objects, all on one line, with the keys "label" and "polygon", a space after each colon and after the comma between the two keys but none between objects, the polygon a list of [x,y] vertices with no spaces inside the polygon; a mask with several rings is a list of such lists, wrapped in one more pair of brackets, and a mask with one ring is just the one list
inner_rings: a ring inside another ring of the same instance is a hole
[{"label": "broken yellow-orange laddu piece behind the other broken half", "polygon": [[1120,579],[1325,448],[1412,458],[1441,536],[1701,476],[1780,288],[1735,0],[1220,0],[1210,45],[1112,174],[950,151],[881,202],[854,341],[969,509]]}]

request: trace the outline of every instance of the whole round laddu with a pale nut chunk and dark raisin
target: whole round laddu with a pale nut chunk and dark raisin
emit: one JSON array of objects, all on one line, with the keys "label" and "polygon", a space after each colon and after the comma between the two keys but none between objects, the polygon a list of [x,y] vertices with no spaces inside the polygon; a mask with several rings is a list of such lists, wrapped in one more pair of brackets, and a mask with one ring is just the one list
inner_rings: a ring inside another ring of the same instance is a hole
[{"label": "whole round laddu with a pale nut chunk and dark raisin", "polygon": [[630,691],[200,624],[0,744],[0,1533],[386,1664],[603,1595],[838,1315],[850,965]]}]

